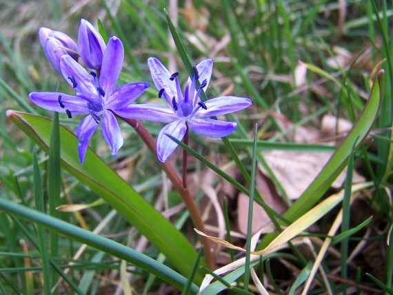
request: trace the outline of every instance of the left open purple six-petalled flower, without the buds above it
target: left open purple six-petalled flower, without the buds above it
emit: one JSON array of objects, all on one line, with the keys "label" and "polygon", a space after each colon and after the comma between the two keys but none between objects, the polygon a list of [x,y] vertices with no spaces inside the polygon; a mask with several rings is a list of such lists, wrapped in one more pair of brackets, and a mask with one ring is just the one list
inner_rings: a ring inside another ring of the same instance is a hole
[{"label": "left open purple six-petalled flower, without the buds above it", "polygon": [[117,112],[141,95],[150,83],[128,83],[115,89],[124,59],[120,39],[110,38],[103,54],[101,74],[88,73],[69,55],[60,61],[61,74],[77,92],[77,96],[61,92],[31,92],[30,100],[46,110],[63,112],[72,118],[74,114],[89,114],[77,128],[79,160],[83,164],[90,137],[102,121],[102,134],[112,149],[112,155],[123,145],[123,136],[116,118]]}]

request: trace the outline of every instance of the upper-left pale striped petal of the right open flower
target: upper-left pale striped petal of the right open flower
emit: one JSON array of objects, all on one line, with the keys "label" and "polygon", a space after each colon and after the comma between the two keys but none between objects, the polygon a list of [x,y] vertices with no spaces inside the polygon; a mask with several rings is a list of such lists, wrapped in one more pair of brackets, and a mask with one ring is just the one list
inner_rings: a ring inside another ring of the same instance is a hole
[{"label": "upper-left pale striped petal of the right open flower", "polygon": [[163,96],[169,105],[172,105],[172,97],[177,97],[177,88],[174,81],[170,81],[170,72],[155,57],[148,58],[148,66],[152,80],[158,90],[165,89]]}]

